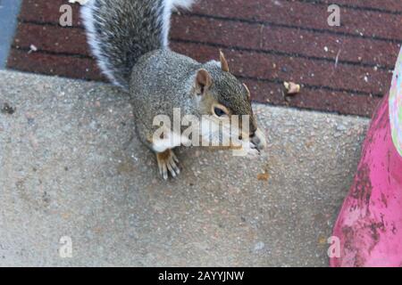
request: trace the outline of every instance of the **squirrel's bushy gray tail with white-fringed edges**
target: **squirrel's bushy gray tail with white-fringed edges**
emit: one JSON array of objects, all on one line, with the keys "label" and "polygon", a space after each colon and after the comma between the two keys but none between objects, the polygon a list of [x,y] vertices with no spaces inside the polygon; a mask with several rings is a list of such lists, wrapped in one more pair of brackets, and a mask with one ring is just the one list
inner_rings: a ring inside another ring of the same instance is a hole
[{"label": "squirrel's bushy gray tail with white-fringed edges", "polygon": [[167,48],[172,10],[194,0],[89,0],[81,9],[88,43],[105,75],[127,88],[138,58]]}]

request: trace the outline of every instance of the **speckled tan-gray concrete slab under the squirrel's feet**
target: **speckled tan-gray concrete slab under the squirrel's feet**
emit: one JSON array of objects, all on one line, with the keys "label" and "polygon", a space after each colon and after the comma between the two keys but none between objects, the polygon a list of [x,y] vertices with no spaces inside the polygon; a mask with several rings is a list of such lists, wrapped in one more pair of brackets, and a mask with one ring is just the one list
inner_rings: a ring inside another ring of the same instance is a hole
[{"label": "speckled tan-gray concrete slab under the squirrel's feet", "polygon": [[4,103],[3,266],[325,266],[368,124],[255,105],[262,156],[181,149],[180,178],[163,182],[112,86],[0,71]]}]

